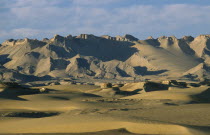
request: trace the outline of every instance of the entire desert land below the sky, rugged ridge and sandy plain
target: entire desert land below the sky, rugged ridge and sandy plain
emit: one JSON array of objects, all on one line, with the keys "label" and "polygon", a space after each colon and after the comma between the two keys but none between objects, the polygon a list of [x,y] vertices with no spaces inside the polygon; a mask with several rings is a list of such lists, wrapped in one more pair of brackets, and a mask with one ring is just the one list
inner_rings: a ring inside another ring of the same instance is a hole
[{"label": "entire desert land below the sky, rugged ridge and sandy plain", "polygon": [[207,47],[209,40],[7,40],[0,47],[0,133],[207,135],[209,56],[194,44]]}]

